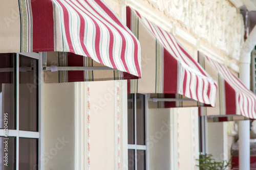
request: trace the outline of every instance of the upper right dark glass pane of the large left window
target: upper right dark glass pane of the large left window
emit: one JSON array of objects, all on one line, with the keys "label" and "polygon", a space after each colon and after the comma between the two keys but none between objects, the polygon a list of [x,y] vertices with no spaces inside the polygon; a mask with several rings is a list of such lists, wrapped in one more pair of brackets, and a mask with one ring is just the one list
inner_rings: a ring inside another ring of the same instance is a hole
[{"label": "upper right dark glass pane of the large left window", "polygon": [[38,61],[19,56],[19,130],[38,131]]}]

